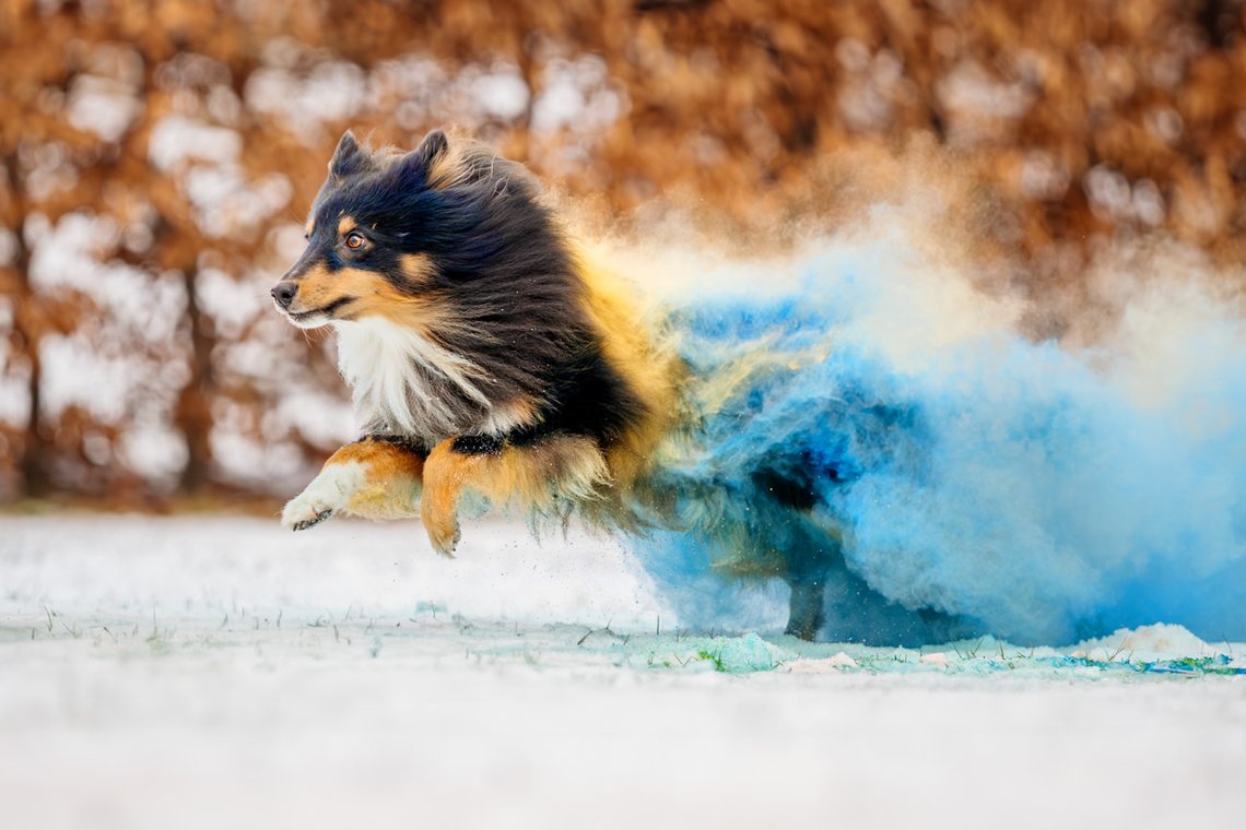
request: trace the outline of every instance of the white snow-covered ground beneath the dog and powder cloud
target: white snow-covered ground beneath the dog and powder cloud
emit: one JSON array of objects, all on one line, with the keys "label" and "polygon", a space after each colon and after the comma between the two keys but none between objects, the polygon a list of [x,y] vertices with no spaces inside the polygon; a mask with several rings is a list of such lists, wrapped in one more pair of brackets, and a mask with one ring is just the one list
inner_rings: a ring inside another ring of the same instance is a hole
[{"label": "white snow-covered ground beneath the dog and powder cloud", "polygon": [[2,826],[1241,826],[1241,643],[759,633],[574,533],[0,516]]}]

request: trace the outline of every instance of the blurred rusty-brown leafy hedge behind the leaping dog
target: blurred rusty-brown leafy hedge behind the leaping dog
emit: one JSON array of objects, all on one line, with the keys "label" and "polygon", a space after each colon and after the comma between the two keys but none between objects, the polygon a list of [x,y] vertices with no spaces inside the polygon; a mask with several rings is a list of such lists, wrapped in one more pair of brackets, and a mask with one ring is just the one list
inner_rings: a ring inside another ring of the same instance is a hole
[{"label": "blurred rusty-brown leafy hedge behind the leaping dog", "polygon": [[1244,6],[0,0],[0,500],[289,490],[350,437],[331,343],[267,299],[348,126],[745,236],[922,136],[1032,296],[1121,238],[1241,263]]}]

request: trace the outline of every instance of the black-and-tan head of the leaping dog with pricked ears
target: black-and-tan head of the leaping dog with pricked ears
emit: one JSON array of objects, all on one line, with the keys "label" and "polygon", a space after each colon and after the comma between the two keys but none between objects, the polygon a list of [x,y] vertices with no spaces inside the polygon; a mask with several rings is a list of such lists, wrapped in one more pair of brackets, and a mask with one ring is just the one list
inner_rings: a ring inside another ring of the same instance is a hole
[{"label": "black-and-tan head of the leaping dog with pricked ears", "polygon": [[273,300],[302,329],[365,317],[436,327],[465,280],[505,266],[532,233],[549,236],[533,194],[521,166],[440,129],[409,153],[369,151],[348,131],[312,205],[307,250]]}]

